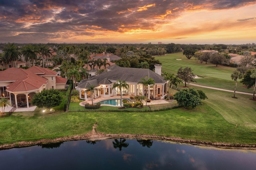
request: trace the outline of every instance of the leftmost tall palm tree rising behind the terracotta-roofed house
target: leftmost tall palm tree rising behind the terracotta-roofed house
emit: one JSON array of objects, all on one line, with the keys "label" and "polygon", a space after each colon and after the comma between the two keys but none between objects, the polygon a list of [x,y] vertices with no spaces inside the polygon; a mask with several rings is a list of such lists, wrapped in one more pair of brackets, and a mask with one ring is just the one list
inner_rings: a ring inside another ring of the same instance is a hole
[{"label": "leftmost tall palm tree rising behind the terracotta-roofed house", "polygon": [[4,51],[5,61],[13,62],[13,67],[16,67],[16,61],[21,56],[21,53],[18,50],[18,47],[16,47],[14,43],[8,43],[7,45],[4,46],[3,51]]}]

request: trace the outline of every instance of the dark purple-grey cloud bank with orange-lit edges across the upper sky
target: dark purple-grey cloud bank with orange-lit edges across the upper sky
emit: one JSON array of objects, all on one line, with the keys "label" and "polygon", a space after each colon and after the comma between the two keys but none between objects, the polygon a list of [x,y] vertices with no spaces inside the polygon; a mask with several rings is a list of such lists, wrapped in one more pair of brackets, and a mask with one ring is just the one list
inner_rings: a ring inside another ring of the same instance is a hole
[{"label": "dark purple-grey cloud bank with orange-lit edges across the upper sky", "polygon": [[[0,0],[1,33],[158,30],[185,10],[239,8],[255,0]],[[30,23],[30,24],[28,24]],[[22,36],[23,36],[22,34]],[[22,37],[20,36],[20,37]],[[60,36],[60,34],[56,34]],[[62,35],[63,36],[63,35]],[[55,36],[54,36],[55,37]],[[1,38],[1,37],[0,37]],[[50,38],[50,37],[49,37]]]}]

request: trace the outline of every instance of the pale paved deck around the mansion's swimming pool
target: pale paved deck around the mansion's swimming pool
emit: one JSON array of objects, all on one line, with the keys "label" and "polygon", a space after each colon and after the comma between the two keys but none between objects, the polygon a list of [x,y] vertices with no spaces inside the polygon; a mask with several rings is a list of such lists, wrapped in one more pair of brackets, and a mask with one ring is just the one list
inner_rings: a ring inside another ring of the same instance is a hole
[{"label": "pale paved deck around the mansion's swimming pool", "polygon": [[[122,96],[122,99],[130,99],[131,95],[124,95]],[[108,99],[120,99],[120,96],[111,96],[111,97],[98,97],[96,99],[93,99],[93,103],[98,103],[99,101],[103,101],[103,100],[108,100]],[[160,99],[160,100],[151,100],[151,102],[148,102],[147,105],[157,105],[157,104],[168,104],[171,103],[172,100],[170,100],[170,102],[164,100],[164,99]],[[85,103],[89,103],[92,104],[92,100],[91,99],[87,99],[86,101],[83,101],[81,103],[79,103],[80,106],[84,106]],[[143,104],[146,105],[146,102],[143,101]],[[111,105],[113,106],[113,105]],[[120,107],[120,106],[117,106]]]}]

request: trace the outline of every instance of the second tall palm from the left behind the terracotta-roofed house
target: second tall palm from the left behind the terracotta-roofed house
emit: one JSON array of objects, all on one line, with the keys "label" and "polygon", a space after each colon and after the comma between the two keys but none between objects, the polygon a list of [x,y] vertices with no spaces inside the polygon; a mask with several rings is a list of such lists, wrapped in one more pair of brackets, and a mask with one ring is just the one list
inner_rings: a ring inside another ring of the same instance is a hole
[{"label": "second tall palm from the left behind the terracotta-roofed house", "polygon": [[[36,53],[39,53],[39,51],[32,45],[26,45],[22,48],[22,54],[24,55],[25,57],[25,61],[28,62],[29,61],[32,61],[33,65],[34,64],[34,61],[37,59],[37,55]],[[30,62],[29,62],[29,67],[30,67]]]}]

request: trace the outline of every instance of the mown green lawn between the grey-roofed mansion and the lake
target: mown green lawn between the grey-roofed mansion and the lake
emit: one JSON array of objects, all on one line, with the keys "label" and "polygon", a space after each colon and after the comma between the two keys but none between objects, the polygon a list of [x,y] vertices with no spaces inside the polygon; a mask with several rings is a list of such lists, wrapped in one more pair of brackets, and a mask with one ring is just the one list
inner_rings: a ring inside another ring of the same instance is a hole
[{"label": "mown green lawn between the grey-roofed mansion and the lake", "polygon": [[[208,97],[212,98],[210,95]],[[225,100],[229,98],[232,99],[228,94],[224,95]],[[104,133],[173,136],[209,142],[255,143],[256,127],[253,125],[256,117],[253,115],[253,109],[243,107],[244,118],[240,120],[243,114],[240,113],[239,106],[230,104],[215,109],[221,102],[212,105],[213,102],[214,99],[210,99],[193,110],[178,108],[146,113],[70,112],[47,115],[41,112],[42,109],[31,113],[14,113],[10,117],[0,119],[0,144],[85,134],[92,130],[96,122],[96,130]],[[230,110],[232,108],[235,109]]]}]

